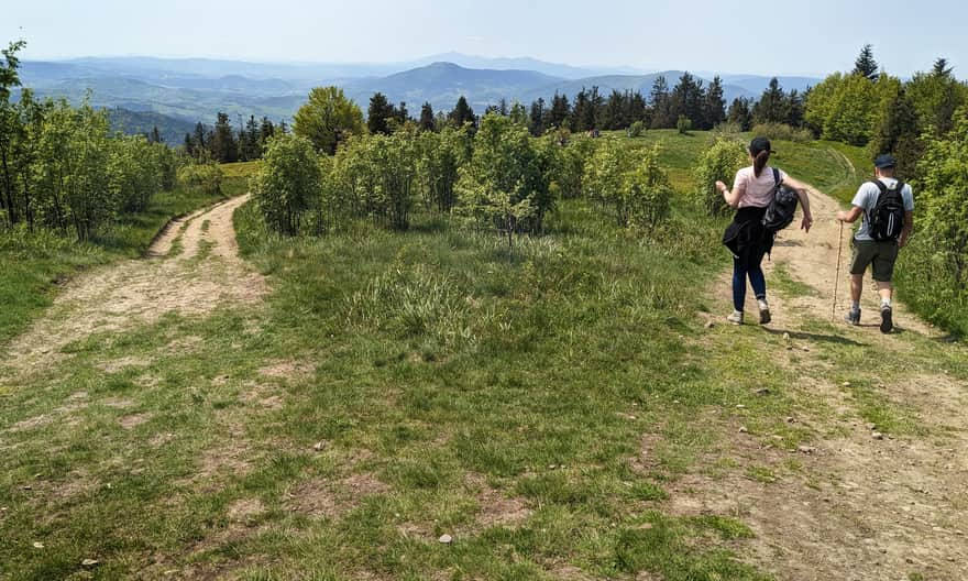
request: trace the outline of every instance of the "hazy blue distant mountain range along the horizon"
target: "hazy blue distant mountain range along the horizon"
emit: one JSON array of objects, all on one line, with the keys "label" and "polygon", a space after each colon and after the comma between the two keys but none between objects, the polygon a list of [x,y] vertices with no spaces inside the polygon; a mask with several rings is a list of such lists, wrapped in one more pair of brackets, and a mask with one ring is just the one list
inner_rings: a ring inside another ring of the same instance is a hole
[{"label": "hazy blue distant mountain range along the horizon", "polygon": [[[659,75],[666,76],[671,88],[682,72],[574,67],[527,57],[488,58],[460,53],[391,64],[85,57],[28,61],[21,68],[23,85],[41,97],[64,97],[76,103],[90,91],[96,107],[128,111],[123,124],[139,128],[133,132],[145,132],[140,123],[150,121],[158,123],[166,136],[182,132],[182,138],[186,123],[211,123],[219,111],[229,113],[233,121],[250,114],[288,120],[306,101],[309,89],[322,85],[343,87],[364,112],[370,97],[380,91],[393,102],[406,101],[414,114],[424,102],[430,102],[435,110],[450,110],[462,95],[481,113],[502,98],[529,105],[539,97],[549,100],[556,91],[573,98],[582,88],[598,87],[606,97],[612,90],[640,90],[648,95]],[[715,73],[695,76],[708,85]],[[770,80],[757,75],[721,77],[727,102],[736,97],[759,96]],[[787,90],[802,91],[821,79],[779,80]]]}]

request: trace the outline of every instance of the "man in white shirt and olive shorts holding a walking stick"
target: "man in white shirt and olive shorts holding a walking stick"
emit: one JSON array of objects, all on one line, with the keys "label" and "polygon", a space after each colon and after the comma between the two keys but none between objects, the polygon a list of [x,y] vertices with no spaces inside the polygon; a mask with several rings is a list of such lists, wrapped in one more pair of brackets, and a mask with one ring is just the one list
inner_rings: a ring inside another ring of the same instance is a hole
[{"label": "man in white shirt and olive shorts holding a walking stick", "polygon": [[860,294],[864,272],[870,265],[881,296],[881,332],[894,328],[891,298],[894,262],[898,251],[911,238],[914,224],[914,193],[911,186],[894,177],[898,162],[891,155],[875,161],[877,179],[867,182],[854,196],[854,207],[838,211],[837,219],[854,223],[864,220],[854,234],[854,257],[850,262],[850,310],[844,317],[848,325],[860,325]]}]

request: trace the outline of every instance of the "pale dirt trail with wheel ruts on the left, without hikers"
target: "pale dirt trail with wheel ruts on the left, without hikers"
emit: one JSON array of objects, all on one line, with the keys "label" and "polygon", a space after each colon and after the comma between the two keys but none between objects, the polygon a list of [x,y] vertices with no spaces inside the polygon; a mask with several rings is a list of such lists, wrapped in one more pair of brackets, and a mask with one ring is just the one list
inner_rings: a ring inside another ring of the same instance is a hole
[{"label": "pale dirt trail with wheel ruts on the left, without hikers", "polygon": [[232,303],[258,300],[263,277],[239,259],[232,215],[249,196],[173,220],[148,259],[97,268],[67,284],[44,318],[7,348],[12,375],[40,372],[63,359],[63,348],[92,333],[120,332],[163,315],[198,316]]}]

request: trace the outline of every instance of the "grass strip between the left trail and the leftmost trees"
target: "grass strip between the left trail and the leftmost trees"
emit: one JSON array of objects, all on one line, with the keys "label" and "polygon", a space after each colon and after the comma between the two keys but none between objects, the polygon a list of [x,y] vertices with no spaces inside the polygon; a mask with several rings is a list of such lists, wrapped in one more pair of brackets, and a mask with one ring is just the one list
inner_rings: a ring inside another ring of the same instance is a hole
[{"label": "grass strip between the left trail and the leftmost trees", "polygon": [[[234,167],[237,165],[246,167]],[[250,164],[227,165],[223,196],[244,193]],[[0,232],[0,344],[14,337],[51,305],[57,287],[78,271],[144,254],[161,228],[218,198],[176,189],[152,198],[148,208],[124,217],[95,240],[79,244],[51,232]]]}]

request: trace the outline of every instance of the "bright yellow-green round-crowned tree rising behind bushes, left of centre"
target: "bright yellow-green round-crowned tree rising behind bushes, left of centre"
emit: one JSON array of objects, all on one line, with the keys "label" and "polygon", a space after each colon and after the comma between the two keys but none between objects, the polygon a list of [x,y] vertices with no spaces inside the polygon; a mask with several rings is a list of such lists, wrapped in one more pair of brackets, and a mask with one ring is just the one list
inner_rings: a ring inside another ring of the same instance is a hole
[{"label": "bright yellow-green round-crowned tree rising behind bushes, left of centre", "polygon": [[[363,133],[363,112],[339,87],[317,87],[296,111],[293,132],[308,139],[317,151],[332,155],[350,135]],[[279,124],[283,133],[285,125]]]}]

